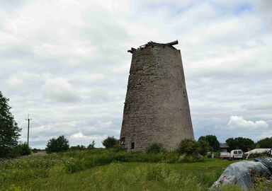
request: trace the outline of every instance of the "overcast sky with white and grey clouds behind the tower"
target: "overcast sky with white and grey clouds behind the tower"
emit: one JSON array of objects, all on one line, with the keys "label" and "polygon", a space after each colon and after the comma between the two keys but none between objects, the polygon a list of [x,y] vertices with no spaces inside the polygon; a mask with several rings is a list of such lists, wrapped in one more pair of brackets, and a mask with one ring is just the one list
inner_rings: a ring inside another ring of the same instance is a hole
[{"label": "overcast sky with white and grey clouds behind the tower", "polygon": [[130,47],[178,39],[195,138],[272,136],[272,1],[0,0],[0,91],[30,146],[119,137]]}]

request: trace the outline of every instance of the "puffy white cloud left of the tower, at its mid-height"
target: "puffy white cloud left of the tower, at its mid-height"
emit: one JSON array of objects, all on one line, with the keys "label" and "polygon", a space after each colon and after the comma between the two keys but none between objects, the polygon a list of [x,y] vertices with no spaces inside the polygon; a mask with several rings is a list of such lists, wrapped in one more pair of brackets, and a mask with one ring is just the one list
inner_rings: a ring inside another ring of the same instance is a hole
[{"label": "puffy white cloud left of the tower, at its mid-height", "polygon": [[77,96],[77,92],[67,79],[49,79],[45,81],[45,84],[42,86],[42,91],[48,98],[59,101],[70,102],[79,98],[79,96]]}]

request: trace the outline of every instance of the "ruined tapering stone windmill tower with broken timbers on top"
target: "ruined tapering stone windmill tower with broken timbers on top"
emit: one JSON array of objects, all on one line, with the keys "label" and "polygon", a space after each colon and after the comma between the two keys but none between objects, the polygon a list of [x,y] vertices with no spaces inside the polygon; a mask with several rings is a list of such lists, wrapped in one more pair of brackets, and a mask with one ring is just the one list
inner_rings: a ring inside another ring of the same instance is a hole
[{"label": "ruined tapering stone windmill tower with broken timbers on top", "polygon": [[168,151],[182,139],[193,139],[181,52],[173,45],[148,42],[132,48],[128,91],[120,141],[128,150],[143,151],[162,143]]}]

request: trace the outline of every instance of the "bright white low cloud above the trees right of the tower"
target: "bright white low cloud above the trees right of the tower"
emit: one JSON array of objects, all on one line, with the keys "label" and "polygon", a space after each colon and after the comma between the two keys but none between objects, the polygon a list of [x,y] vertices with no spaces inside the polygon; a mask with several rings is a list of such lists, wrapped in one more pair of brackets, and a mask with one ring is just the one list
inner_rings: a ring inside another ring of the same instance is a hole
[{"label": "bright white low cloud above the trees right of the tower", "polygon": [[227,123],[227,126],[230,129],[245,129],[245,130],[251,130],[251,129],[266,129],[268,127],[267,122],[261,120],[252,122],[250,120],[244,120],[241,116],[232,116],[229,118],[229,122]]}]

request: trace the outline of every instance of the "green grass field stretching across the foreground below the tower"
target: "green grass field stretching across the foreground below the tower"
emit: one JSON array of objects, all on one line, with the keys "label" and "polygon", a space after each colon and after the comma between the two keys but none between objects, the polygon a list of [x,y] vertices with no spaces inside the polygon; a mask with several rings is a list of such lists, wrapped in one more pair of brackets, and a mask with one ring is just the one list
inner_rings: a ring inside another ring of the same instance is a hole
[{"label": "green grass field stretching across the foreground below the tower", "polygon": [[232,163],[179,163],[175,157],[98,149],[16,158],[0,162],[0,190],[208,190]]}]

